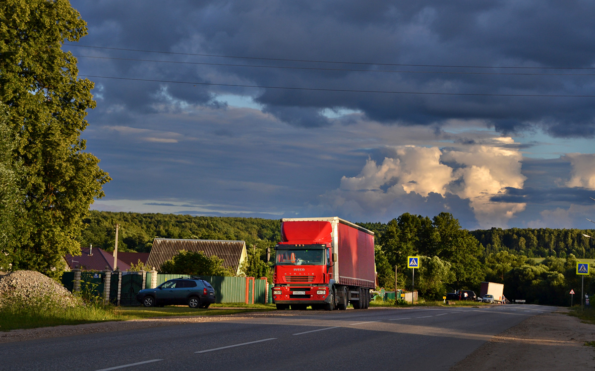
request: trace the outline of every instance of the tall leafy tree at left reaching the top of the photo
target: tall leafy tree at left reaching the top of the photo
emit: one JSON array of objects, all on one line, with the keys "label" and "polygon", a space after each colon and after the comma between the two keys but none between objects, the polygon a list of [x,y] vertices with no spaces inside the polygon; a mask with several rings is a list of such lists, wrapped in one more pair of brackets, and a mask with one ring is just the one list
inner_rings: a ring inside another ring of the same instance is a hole
[{"label": "tall leafy tree at left reaching the top of the photo", "polygon": [[0,2],[0,101],[24,169],[13,269],[59,276],[62,257],[80,254],[82,217],[109,181],[80,139],[93,83],[77,78],[76,58],[61,49],[86,33],[67,0]]}]

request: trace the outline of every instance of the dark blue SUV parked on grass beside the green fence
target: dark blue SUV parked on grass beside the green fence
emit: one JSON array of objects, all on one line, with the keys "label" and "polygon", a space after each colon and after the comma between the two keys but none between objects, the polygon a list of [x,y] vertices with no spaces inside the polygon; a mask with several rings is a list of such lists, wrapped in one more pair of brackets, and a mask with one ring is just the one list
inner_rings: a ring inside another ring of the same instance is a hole
[{"label": "dark blue SUV parked on grass beside the green fence", "polygon": [[204,279],[170,279],[156,288],[140,290],[136,300],[145,307],[187,305],[190,308],[208,308],[215,303],[215,290]]}]

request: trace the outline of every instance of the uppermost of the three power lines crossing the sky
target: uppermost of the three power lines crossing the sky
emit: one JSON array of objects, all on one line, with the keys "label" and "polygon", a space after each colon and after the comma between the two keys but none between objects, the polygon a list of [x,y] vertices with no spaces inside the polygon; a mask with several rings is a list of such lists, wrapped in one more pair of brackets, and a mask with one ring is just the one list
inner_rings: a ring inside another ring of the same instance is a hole
[{"label": "uppermost of the three power lines crossing the sky", "polygon": [[519,68],[519,69],[533,69],[533,70],[595,70],[595,67],[527,67],[527,66],[481,66],[481,65],[444,65],[444,64],[402,64],[402,63],[378,63],[378,62],[346,62],[346,61],[322,61],[312,59],[289,59],[289,58],[265,58],[256,56],[240,56],[240,55],[219,55],[219,54],[198,54],[198,53],[180,53],[180,52],[164,52],[164,51],[150,51],[143,49],[127,49],[127,48],[108,48],[107,46],[92,46],[80,45],[73,43],[65,43],[67,46],[77,46],[79,48],[93,48],[93,49],[108,49],[117,51],[129,52],[145,52],[158,54],[173,54],[173,55],[193,55],[193,56],[212,56],[216,58],[238,58],[238,59],[259,59],[262,61],[284,61],[284,62],[308,62],[308,63],[336,63],[336,64],[357,64],[357,65],[386,65],[399,67],[448,67],[448,68]]}]

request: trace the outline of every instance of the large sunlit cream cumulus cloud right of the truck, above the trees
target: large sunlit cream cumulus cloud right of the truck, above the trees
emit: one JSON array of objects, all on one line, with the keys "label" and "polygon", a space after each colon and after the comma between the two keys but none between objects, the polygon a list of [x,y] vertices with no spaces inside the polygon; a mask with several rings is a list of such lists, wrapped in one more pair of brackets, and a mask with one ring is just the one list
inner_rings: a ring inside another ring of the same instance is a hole
[{"label": "large sunlit cream cumulus cloud right of the truck, above the trees", "polygon": [[506,227],[525,209],[524,203],[491,201],[506,187],[522,188],[526,180],[522,154],[510,144],[511,138],[499,138],[456,149],[394,147],[381,164],[368,159],[356,177],[343,177],[340,188],[326,195],[327,201],[347,213],[386,214],[404,197],[411,202],[413,194],[421,196],[417,202],[426,202],[430,193],[450,194],[468,200],[480,227]]}]

